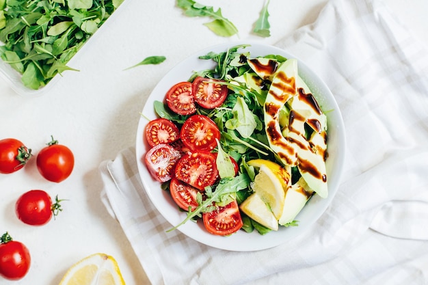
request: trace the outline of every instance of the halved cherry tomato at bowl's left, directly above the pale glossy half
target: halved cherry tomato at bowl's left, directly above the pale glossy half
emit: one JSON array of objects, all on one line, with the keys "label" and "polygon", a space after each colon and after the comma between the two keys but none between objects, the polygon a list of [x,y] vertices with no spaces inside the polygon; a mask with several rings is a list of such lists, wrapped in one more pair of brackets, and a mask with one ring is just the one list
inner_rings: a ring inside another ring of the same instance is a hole
[{"label": "halved cherry tomato at bowl's left, directly above the pale glossy half", "polygon": [[146,126],[146,139],[150,146],[171,144],[179,138],[180,131],[177,126],[165,118],[151,120]]}]

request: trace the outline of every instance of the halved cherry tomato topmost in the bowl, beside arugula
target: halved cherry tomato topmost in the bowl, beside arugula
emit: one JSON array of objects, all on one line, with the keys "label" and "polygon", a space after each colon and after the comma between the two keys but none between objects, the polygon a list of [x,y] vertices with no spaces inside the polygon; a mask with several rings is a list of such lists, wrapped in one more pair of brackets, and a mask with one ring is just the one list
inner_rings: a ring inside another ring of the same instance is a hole
[{"label": "halved cherry tomato topmost in the bowl, beside arugula", "polygon": [[193,80],[193,98],[202,108],[214,109],[221,106],[228,96],[228,87],[217,82],[219,79],[196,77]]}]

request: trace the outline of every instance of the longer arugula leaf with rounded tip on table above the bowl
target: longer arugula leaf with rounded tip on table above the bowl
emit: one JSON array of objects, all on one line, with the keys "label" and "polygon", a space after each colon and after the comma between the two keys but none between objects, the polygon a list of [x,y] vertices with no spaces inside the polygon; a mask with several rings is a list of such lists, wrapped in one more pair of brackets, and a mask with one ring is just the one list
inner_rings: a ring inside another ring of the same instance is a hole
[{"label": "longer arugula leaf with rounded tip on table above the bowl", "polygon": [[186,16],[213,18],[212,22],[205,23],[204,25],[218,36],[230,37],[238,33],[237,27],[227,18],[224,18],[220,8],[215,11],[213,7],[202,5],[193,0],[177,0],[177,6],[184,10]]}]

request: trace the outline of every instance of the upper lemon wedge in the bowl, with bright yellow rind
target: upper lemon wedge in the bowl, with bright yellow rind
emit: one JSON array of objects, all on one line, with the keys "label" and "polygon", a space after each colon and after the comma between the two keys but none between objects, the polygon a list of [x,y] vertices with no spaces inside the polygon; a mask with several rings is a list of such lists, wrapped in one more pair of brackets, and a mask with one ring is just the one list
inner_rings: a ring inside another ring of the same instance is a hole
[{"label": "upper lemon wedge in the bowl, with bright yellow rind", "polygon": [[252,189],[271,208],[278,221],[284,208],[285,193],[289,183],[286,178],[289,178],[289,174],[280,165],[271,161],[248,161],[248,165],[258,166],[258,174],[252,182]]}]

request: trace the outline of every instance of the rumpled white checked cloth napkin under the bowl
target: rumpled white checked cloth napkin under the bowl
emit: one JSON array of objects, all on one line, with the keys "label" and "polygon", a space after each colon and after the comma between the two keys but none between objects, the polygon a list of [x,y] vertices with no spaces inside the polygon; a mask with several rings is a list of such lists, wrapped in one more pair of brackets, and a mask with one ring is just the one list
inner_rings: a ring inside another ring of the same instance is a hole
[{"label": "rumpled white checked cloth napkin under the bowl", "polygon": [[332,90],[345,121],[343,182],[308,232],[228,252],[170,224],[146,195],[135,149],[100,166],[102,200],[152,284],[427,284],[428,53],[381,1],[333,0],[277,46]]}]

